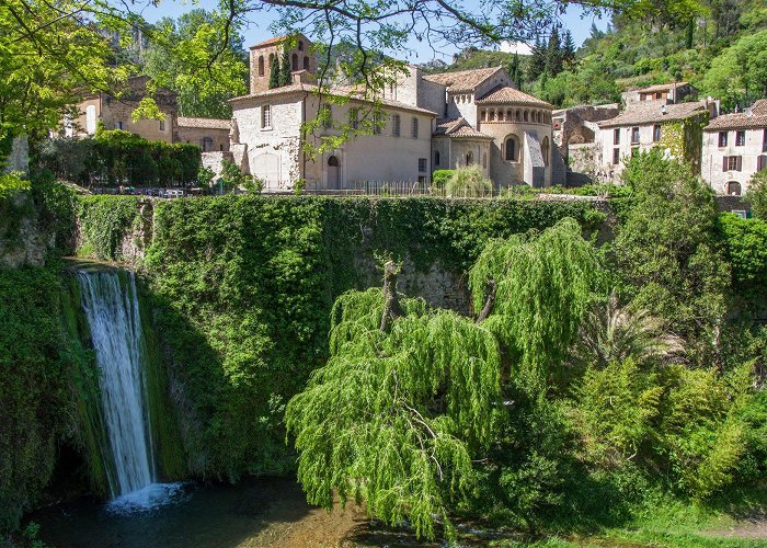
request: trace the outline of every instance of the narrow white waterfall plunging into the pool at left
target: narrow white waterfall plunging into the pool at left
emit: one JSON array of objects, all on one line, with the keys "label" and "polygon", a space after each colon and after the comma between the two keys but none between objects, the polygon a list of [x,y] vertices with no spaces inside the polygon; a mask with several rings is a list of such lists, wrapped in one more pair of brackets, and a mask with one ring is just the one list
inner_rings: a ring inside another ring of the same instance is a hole
[{"label": "narrow white waterfall plunging into the pool at left", "polygon": [[102,409],[112,456],[108,475],[114,510],[156,507],[172,499],[179,483],[156,483],[151,424],[147,411],[144,334],[133,272],[78,271],[88,319]]}]

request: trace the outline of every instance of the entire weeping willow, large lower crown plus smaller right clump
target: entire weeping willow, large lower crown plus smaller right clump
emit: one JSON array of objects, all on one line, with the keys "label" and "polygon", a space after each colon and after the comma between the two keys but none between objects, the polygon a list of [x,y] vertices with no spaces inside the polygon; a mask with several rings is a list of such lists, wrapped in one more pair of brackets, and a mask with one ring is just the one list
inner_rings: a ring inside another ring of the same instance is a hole
[{"label": "entire weeping willow, large lower crown plus smaller right clump", "polygon": [[286,410],[309,502],[354,496],[426,538],[442,516],[449,538],[449,510],[476,486],[474,463],[507,412],[501,345],[519,370],[563,356],[596,272],[594,250],[566,220],[488,247],[471,272],[477,319],[400,297],[392,263],[382,292],[340,297],[330,359]]}]

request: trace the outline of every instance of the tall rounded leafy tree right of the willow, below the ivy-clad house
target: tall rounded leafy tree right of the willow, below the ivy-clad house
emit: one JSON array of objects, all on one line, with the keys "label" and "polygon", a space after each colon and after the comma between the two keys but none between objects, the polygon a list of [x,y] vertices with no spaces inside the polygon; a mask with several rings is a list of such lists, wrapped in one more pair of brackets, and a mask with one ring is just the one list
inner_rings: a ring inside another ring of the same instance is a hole
[{"label": "tall rounded leafy tree right of the willow, below the ivy-clad house", "polygon": [[614,242],[622,296],[716,359],[730,266],[716,238],[711,190],[657,151],[632,158],[623,180],[634,204]]}]

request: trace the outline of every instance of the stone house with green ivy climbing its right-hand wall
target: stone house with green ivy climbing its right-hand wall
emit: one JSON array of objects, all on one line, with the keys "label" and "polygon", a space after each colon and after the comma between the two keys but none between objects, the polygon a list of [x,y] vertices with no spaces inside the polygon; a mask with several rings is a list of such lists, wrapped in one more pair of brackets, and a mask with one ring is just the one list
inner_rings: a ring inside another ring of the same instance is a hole
[{"label": "stone house with green ivy climbing its right-hand wall", "polygon": [[605,179],[617,180],[627,159],[639,151],[661,147],[669,157],[688,161],[692,171],[700,173],[701,128],[717,113],[718,104],[710,101],[636,102],[618,116],[598,123],[597,170]]}]

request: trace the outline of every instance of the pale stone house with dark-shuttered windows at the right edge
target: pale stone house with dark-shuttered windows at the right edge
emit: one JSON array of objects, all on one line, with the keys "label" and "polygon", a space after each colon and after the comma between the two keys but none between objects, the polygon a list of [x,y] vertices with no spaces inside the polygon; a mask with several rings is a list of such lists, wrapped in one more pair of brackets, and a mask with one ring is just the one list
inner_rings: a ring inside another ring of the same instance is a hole
[{"label": "pale stone house with dark-shuttered windows at the right edge", "polygon": [[767,99],[745,112],[725,114],[703,128],[702,175],[718,194],[748,191],[754,173],[767,169]]}]

